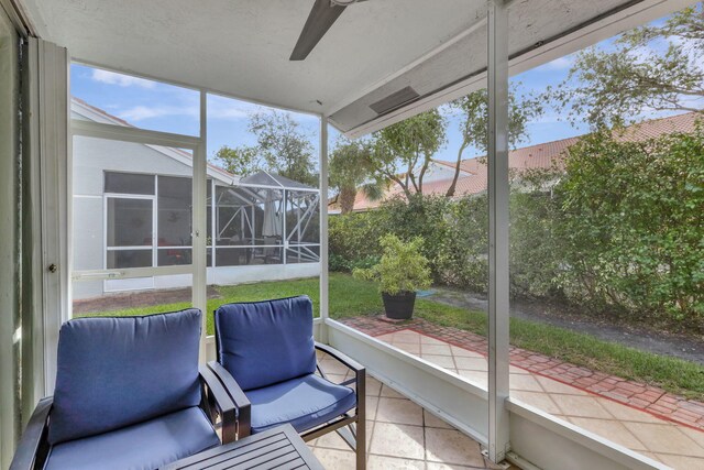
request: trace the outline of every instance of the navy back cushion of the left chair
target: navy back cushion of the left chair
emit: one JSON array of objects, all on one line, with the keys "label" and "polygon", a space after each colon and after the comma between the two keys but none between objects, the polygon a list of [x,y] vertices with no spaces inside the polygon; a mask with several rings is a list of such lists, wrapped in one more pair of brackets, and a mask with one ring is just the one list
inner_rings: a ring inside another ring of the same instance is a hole
[{"label": "navy back cushion of the left chair", "polygon": [[200,310],[62,326],[48,440],[92,436],[197,406]]}]

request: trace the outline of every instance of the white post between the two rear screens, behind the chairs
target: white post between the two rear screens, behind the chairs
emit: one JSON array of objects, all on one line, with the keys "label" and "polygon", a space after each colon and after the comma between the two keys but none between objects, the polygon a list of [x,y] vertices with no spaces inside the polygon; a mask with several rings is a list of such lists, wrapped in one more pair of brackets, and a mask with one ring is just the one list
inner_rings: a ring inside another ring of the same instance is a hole
[{"label": "white post between the two rear screens, behind the chairs", "polygon": [[200,361],[206,361],[206,317],[208,316],[208,267],[206,253],[207,230],[207,184],[208,184],[208,155],[206,142],[207,134],[207,105],[208,95],[200,91],[200,144],[194,152],[194,176],[193,176],[193,303],[194,307],[202,311],[202,332],[200,336]]}]

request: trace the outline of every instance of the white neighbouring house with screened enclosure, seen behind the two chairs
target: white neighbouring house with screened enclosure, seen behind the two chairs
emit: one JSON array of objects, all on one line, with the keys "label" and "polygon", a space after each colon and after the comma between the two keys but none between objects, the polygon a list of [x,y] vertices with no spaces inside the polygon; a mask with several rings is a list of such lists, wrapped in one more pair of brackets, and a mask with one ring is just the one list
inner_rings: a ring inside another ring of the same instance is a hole
[{"label": "white neighbouring house with screened enclosure, seen behind the two chairs", "polygon": [[[77,98],[70,111],[73,119],[130,125]],[[106,270],[191,263],[190,152],[75,136],[73,166],[73,237],[80,247],[74,298],[190,286],[189,274],[90,278]],[[266,173],[240,178],[210,164],[208,178],[209,284],[320,272],[318,189]]]}]

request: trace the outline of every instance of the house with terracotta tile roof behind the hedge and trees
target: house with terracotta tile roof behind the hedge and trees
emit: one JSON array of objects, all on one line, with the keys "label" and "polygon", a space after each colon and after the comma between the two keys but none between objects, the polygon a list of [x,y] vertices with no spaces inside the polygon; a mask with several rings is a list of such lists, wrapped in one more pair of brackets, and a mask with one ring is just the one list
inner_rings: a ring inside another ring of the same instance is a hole
[{"label": "house with terracotta tile roof behind the hedge and trees", "polygon": [[[656,138],[673,132],[692,132],[695,120],[702,117],[697,112],[669,118],[654,119],[626,128],[617,135],[618,140],[639,141]],[[508,166],[515,178],[520,178],[521,172],[527,170],[550,170],[561,168],[566,150],[579,142],[580,136],[562,139],[553,142],[546,142],[529,145],[508,152]],[[444,196],[452,184],[455,162],[433,160],[428,166],[426,177],[422,183],[425,195]],[[486,157],[466,159],[460,163],[460,176],[455,186],[454,197],[460,198],[469,195],[481,194],[486,190],[487,170]],[[354,210],[364,211],[378,207],[384,200],[395,197],[404,197],[404,192],[398,185],[393,185],[380,200],[369,200],[362,192],[359,192],[354,200]],[[330,211],[339,209],[332,203]],[[337,210],[339,211],[339,210]]]}]

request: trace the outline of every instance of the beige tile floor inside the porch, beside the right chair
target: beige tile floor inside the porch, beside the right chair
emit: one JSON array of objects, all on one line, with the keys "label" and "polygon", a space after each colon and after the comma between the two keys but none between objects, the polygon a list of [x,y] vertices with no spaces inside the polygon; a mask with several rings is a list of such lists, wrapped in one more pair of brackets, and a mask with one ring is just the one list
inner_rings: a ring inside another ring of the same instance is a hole
[{"label": "beige tile floor inside the porch, beside the right chair", "polygon": [[[334,382],[352,378],[324,354],[319,364]],[[482,456],[480,445],[372,376],[366,379],[369,470],[501,469]],[[355,468],[355,455],[336,433],[308,442],[329,470]],[[516,467],[513,467],[516,469]]]}]

